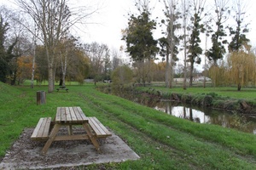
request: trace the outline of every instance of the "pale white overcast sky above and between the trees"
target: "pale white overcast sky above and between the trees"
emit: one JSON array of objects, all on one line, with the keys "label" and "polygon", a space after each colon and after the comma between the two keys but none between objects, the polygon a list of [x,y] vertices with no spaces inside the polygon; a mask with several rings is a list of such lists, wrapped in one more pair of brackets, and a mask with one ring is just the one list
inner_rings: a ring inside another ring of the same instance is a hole
[{"label": "pale white overcast sky above and between the trees", "polygon": [[[14,0],[1,0],[0,4],[9,5],[10,1]],[[232,1],[232,0],[231,0]],[[256,46],[256,1],[255,0],[242,0],[248,1],[247,7],[247,22],[250,23],[248,28],[250,33],[247,37],[251,40],[253,46]],[[125,45],[124,41],[121,41],[121,29],[125,29],[128,22],[128,13],[136,11],[134,0],[70,0],[72,3],[100,3],[101,10],[98,14],[92,16],[91,20],[98,24],[90,24],[83,28],[83,32],[79,32],[79,37],[83,42],[99,42],[108,44],[109,48],[117,48],[121,45]],[[208,2],[208,0],[207,0]],[[154,7],[152,13],[154,17],[161,14],[161,3],[158,0],[151,0],[151,6]],[[84,4],[86,5],[86,4]],[[230,19],[232,20],[232,19]],[[160,32],[160,30],[155,31]],[[155,33],[154,32],[154,33]],[[228,32],[227,32],[228,33]],[[156,33],[155,33],[156,34]]]}]

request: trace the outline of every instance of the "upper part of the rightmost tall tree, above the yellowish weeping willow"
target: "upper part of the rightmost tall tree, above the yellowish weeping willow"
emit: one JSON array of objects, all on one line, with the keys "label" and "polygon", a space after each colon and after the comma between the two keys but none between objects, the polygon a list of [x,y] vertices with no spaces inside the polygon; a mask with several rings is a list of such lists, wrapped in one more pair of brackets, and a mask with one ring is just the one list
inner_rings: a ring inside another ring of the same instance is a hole
[{"label": "upper part of the rightmost tall tree, above the yellowish weeping willow", "polygon": [[236,21],[236,29],[229,26],[230,36],[232,41],[229,44],[229,51],[238,51],[243,44],[247,44],[250,40],[247,39],[246,33],[248,32],[247,24],[244,24],[246,14],[246,3],[242,0],[234,0],[234,6],[231,10],[233,18]]}]

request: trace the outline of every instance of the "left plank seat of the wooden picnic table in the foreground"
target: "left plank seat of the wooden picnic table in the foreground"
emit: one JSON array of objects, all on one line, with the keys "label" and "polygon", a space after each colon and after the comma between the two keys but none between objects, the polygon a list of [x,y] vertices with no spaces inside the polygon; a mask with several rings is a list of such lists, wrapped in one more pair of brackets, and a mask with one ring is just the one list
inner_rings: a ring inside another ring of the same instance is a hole
[{"label": "left plank seat of the wooden picnic table in the foreground", "polygon": [[47,140],[49,138],[49,129],[51,125],[51,117],[42,117],[39,119],[37,127],[35,127],[31,139]]}]

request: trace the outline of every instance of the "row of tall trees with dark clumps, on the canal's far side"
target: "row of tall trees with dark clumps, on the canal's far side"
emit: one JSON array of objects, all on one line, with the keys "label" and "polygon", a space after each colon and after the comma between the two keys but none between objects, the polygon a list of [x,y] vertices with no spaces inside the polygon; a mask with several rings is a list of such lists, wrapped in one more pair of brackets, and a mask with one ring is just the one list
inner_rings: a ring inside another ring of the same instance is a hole
[{"label": "row of tall trees with dark clumps, on the canal's far side", "polygon": [[[245,2],[241,0],[161,0],[165,19],[164,37],[155,40],[153,31],[157,20],[150,19],[149,1],[138,0],[138,14],[130,14],[128,27],[123,31],[128,52],[134,61],[134,66],[140,75],[140,81],[145,83],[148,71],[143,65],[148,60],[155,59],[160,54],[166,60],[166,87],[172,88],[173,66],[183,51],[183,88],[186,89],[187,65],[189,65],[189,86],[192,86],[194,65],[201,64],[203,51],[208,59],[208,65],[218,67],[218,62],[224,59],[226,48],[230,55],[239,54],[243,46],[248,46],[249,39],[245,23]],[[232,22],[233,19],[233,22]],[[227,25],[226,23],[235,25]],[[228,35],[228,31],[230,34]],[[205,45],[202,35],[206,37]],[[231,37],[230,42],[228,41]],[[207,37],[211,37],[211,46],[207,48]],[[157,41],[159,43],[157,43]],[[159,44],[159,45],[157,45]],[[206,49],[202,47],[205,46]],[[160,47],[160,48],[159,48]],[[247,53],[251,53],[247,51]],[[244,55],[241,55],[241,58]],[[206,66],[206,65],[205,65]],[[150,67],[148,67],[150,68]]]}]

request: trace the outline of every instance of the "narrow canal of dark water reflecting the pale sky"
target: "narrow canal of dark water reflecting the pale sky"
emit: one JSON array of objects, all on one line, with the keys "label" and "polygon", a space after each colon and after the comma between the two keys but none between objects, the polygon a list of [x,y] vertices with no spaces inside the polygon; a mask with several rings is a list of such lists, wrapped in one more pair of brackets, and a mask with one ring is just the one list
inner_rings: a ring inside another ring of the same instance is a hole
[{"label": "narrow canal of dark water reflecting the pale sky", "polygon": [[137,94],[125,94],[124,91],[115,95],[192,122],[216,124],[222,127],[235,128],[242,132],[256,134],[256,116],[245,116],[236,112],[184,105],[172,101],[147,98]]}]

